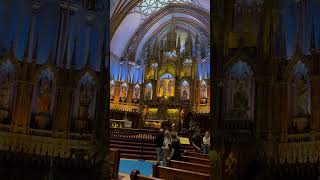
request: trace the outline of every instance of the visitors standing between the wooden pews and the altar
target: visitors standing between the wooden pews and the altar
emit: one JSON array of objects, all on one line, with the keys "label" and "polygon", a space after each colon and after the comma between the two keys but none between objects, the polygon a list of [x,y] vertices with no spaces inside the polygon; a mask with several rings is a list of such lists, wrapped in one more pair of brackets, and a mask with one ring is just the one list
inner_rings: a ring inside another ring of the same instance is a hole
[{"label": "visitors standing between the wooden pews and the altar", "polygon": [[[157,163],[167,164],[168,160],[181,160],[181,143],[176,131],[160,129],[155,138]],[[192,137],[192,146],[195,151],[208,154],[210,148],[210,134],[206,131],[202,137],[200,130],[196,130]]]}]

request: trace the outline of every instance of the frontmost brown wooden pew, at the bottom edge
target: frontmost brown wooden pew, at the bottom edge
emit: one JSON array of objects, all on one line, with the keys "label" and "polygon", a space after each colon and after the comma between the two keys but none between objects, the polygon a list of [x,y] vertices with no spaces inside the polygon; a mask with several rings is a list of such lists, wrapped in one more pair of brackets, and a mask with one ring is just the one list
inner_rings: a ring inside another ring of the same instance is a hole
[{"label": "frontmost brown wooden pew, at the bottom edge", "polygon": [[209,180],[209,174],[175,169],[171,167],[153,166],[153,176],[165,180]]}]

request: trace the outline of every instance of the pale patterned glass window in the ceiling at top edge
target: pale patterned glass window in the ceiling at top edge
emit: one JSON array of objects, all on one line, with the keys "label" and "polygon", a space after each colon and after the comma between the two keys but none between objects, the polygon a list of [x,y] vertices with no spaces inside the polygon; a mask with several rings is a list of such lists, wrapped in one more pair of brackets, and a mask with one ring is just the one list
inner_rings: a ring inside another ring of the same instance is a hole
[{"label": "pale patterned glass window in the ceiling at top edge", "polygon": [[142,0],[138,7],[138,11],[146,16],[156,12],[160,8],[169,3],[192,3],[193,0]]}]

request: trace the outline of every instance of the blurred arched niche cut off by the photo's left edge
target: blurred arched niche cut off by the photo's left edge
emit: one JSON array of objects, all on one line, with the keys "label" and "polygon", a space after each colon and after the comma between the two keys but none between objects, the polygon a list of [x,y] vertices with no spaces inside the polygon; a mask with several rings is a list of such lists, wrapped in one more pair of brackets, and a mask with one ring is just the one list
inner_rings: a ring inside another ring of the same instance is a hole
[{"label": "blurred arched niche cut off by the photo's left edge", "polygon": [[11,105],[14,82],[14,67],[10,61],[0,65],[0,123],[11,122]]}]

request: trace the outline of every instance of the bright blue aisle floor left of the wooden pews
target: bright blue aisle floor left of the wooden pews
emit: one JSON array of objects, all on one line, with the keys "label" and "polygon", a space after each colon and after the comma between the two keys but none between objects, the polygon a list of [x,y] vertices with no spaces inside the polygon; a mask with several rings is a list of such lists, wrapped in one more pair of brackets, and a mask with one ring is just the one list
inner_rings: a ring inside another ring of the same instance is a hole
[{"label": "bright blue aisle floor left of the wooden pews", "polygon": [[132,170],[139,170],[144,176],[152,176],[153,161],[120,159],[119,172],[130,174]]}]

